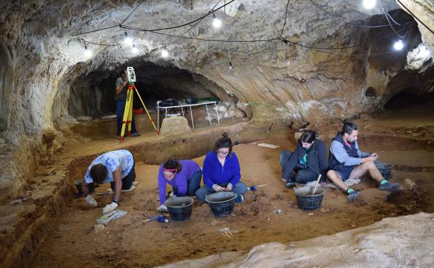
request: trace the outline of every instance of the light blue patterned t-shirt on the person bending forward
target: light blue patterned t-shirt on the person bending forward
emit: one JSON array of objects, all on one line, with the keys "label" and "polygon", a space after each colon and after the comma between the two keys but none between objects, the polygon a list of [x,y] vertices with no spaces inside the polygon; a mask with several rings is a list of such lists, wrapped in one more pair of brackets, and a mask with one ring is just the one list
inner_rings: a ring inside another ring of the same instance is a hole
[{"label": "light blue patterned t-shirt on the person bending forward", "polygon": [[118,166],[120,166],[121,178],[127,177],[129,171],[131,171],[131,168],[133,168],[134,157],[133,154],[131,154],[131,152],[128,150],[115,150],[99,155],[99,157],[92,161],[88,167],[88,171],[86,171],[86,175],[84,176],[84,181],[86,183],[93,182],[92,178],[90,177],[90,168],[96,164],[103,164],[107,168],[107,178],[104,180],[104,182],[113,182],[113,172],[116,168],[118,168]]}]

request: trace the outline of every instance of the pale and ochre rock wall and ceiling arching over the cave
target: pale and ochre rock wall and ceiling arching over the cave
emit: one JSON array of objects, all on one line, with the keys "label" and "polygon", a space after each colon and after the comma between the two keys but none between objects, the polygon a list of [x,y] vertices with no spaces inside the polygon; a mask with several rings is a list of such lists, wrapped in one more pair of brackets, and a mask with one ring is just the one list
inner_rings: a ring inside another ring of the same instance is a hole
[{"label": "pale and ochre rock wall and ceiling arching over the cave", "polygon": [[[421,14],[421,19],[432,23],[431,1],[404,2],[415,9],[415,14]],[[147,62],[185,70],[204,87],[208,86],[207,90],[214,90],[218,97],[238,100],[237,107],[252,118],[252,123],[278,122],[284,126],[321,125],[379,109],[387,95],[387,84],[405,65],[405,56],[394,57],[392,65],[384,64],[389,58],[378,58],[376,52],[380,49],[372,43],[353,47],[367,40],[372,32],[339,20],[370,23],[371,16],[381,13],[378,6],[364,10],[358,2],[341,5],[331,0],[318,1],[322,10],[311,1],[290,0],[284,31],[287,1],[283,0],[236,0],[216,11],[216,16],[223,19],[220,29],[210,26],[209,16],[190,30],[183,27],[159,31],[216,40],[273,39],[282,31],[283,38],[320,48],[316,50],[286,45],[280,40],[202,42],[127,30],[134,38],[138,54],[133,54],[126,45],[102,46],[88,42],[86,47],[94,56],[87,58],[85,42],[80,38],[120,45],[124,31],[118,24],[138,3],[140,1],[133,0],[0,2],[0,10],[4,10],[0,14],[0,130],[5,141],[17,136],[17,146],[23,146],[24,150],[29,148],[28,144],[38,147],[45,143],[42,139],[45,129],[51,132],[57,125],[74,121],[70,111],[90,111],[86,102],[70,103],[78,100],[71,97],[74,85],[77,86],[76,79],[95,70],[113,74],[132,59],[139,65]],[[399,8],[392,0],[382,3],[386,10]],[[214,5],[215,1],[211,0],[146,1],[122,23],[143,29],[175,26],[206,15]],[[324,10],[339,19],[330,17]],[[74,36],[107,26],[111,28]],[[419,29],[422,32],[421,26]],[[390,33],[390,30],[385,31],[387,35]],[[433,37],[422,33],[422,40],[431,46]],[[408,38],[419,45],[417,35],[411,33]],[[383,41],[386,44],[383,49],[389,51],[390,42],[392,40]],[[164,45],[170,52],[168,58],[160,56]],[[333,49],[330,53],[321,49],[348,46],[351,48]],[[370,87],[375,89],[374,100],[365,94]],[[56,143],[60,145],[61,135],[58,133],[54,139],[58,139]],[[27,137],[33,141],[26,143]],[[42,146],[47,148],[47,145]],[[32,152],[33,158],[38,159],[38,150]],[[24,185],[28,179],[19,180],[13,187]]]}]

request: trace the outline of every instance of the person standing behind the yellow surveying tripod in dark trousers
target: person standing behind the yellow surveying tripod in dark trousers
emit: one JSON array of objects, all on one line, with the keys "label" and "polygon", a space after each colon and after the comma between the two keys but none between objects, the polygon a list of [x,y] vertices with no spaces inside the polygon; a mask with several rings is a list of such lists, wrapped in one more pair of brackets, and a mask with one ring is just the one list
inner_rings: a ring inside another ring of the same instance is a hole
[{"label": "person standing behind the yellow surveying tripod in dark trousers", "polygon": [[[116,79],[115,87],[115,101],[116,101],[116,119],[117,119],[117,130],[116,136],[118,139],[120,137],[120,132],[122,130],[122,118],[124,117],[125,104],[127,103],[127,69],[122,70],[120,77]],[[134,123],[134,116],[131,122],[131,136],[140,136],[136,130],[136,123]]]}]

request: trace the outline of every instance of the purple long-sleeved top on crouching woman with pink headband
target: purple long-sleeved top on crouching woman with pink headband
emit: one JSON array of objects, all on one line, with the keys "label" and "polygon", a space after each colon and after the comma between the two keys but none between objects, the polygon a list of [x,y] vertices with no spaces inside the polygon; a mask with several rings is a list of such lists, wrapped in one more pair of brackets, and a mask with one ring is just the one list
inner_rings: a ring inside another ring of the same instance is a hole
[{"label": "purple long-sleeved top on crouching woman with pink headband", "polygon": [[164,204],[166,201],[166,183],[170,184],[172,187],[178,187],[178,196],[185,196],[187,193],[187,182],[194,173],[200,171],[199,165],[192,160],[179,160],[179,164],[181,164],[181,171],[175,174],[175,178],[173,180],[166,180],[163,174],[163,164],[159,168],[159,195],[160,195],[160,204]]}]

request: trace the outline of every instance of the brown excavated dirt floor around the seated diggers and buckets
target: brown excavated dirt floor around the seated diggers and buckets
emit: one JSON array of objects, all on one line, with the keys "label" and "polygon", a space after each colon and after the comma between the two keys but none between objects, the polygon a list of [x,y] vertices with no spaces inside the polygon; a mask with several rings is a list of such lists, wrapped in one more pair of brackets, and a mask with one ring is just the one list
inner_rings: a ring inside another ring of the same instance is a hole
[{"label": "brown excavated dirt floor around the seated diggers and buckets", "polygon": [[[376,123],[369,123],[366,132],[395,131],[395,128],[413,125],[417,128],[420,124],[432,127],[434,123],[432,116],[418,115],[421,120],[417,122],[417,118],[405,113],[407,122],[403,122],[395,115],[396,111],[389,115],[384,113]],[[369,120],[364,122],[365,126],[367,122]],[[396,134],[400,135],[399,132]],[[94,229],[96,219],[102,215],[102,207],[110,202],[111,196],[96,196],[97,208],[88,207],[83,198],[73,199],[65,207],[65,212],[58,216],[54,231],[46,235],[31,267],[155,267],[225,251],[247,251],[267,242],[288,244],[332,235],[390,216],[421,211],[433,213],[434,152],[412,148],[410,143],[402,144],[402,140],[394,141],[391,137],[392,134],[385,135],[383,140],[369,140],[369,144],[360,140],[360,147],[365,151],[380,152],[380,161],[396,164],[391,180],[401,183],[401,191],[394,194],[379,191],[369,177],[364,177],[354,187],[362,190],[355,203],[348,203],[341,191],[328,188],[321,210],[316,212],[301,211],[293,190],[285,189],[280,179],[280,151],[294,148],[288,140],[265,141],[280,145],[278,149],[256,144],[234,147],[241,161],[241,180],[248,185],[266,184],[266,187],[249,191],[245,202],[235,205],[232,216],[222,219],[215,218],[207,204],[195,202],[191,219],[187,221],[146,223],[147,216],[156,215],[159,205],[158,166],[137,163],[136,180],[139,184],[131,193],[123,193],[120,200],[119,209],[127,211],[126,216],[112,221],[104,229]],[[415,135],[411,137],[417,138]],[[78,155],[84,147],[75,145]],[[67,152],[66,155],[74,157],[75,153]],[[202,165],[203,159],[194,160]],[[415,189],[408,189],[405,179],[415,182]],[[102,193],[108,187],[102,185],[96,191]],[[276,213],[278,210],[282,212]],[[232,235],[220,232],[223,228],[230,228]]]}]

